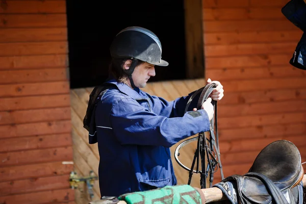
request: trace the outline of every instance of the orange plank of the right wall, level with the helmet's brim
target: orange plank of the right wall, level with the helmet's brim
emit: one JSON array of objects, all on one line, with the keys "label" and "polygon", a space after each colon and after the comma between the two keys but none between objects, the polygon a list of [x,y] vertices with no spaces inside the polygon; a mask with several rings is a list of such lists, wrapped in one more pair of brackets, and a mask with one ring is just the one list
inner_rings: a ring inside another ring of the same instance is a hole
[{"label": "orange plank of the right wall, level with the helmet's brim", "polygon": [[[292,50],[292,55],[294,50]],[[207,57],[205,66],[211,68],[231,68],[231,67],[260,67],[269,65],[290,65],[292,58],[290,54],[278,55],[248,55],[248,56],[230,56],[230,57]]]}]

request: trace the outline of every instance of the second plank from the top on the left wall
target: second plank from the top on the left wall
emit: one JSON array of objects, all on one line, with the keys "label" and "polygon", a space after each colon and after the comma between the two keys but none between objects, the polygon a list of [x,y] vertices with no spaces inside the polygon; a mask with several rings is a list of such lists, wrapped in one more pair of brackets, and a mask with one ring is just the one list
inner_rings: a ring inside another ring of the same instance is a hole
[{"label": "second plank from the top on the left wall", "polygon": [[66,20],[66,14],[0,14],[0,28],[64,28]]}]

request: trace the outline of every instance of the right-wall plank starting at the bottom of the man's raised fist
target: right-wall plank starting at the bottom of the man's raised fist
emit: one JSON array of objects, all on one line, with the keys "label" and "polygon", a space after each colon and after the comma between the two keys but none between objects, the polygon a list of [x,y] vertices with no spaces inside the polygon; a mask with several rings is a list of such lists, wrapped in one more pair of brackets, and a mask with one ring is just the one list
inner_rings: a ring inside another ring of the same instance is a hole
[{"label": "right-wall plank starting at the bottom of the man's raised fist", "polygon": [[[290,72],[289,72],[290,73]],[[291,88],[291,89],[276,89],[276,90],[262,90],[262,91],[247,91],[247,92],[230,92],[220,100],[220,104],[253,104],[253,103],[267,103],[269,101],[282,100],[298,100],[306,99],[306,89]]]}]

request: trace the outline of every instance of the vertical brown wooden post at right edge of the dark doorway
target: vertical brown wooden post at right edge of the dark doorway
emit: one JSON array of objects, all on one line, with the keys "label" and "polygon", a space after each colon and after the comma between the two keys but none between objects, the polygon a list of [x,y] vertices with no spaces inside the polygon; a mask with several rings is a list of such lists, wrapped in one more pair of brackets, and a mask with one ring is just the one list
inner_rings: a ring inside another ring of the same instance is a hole
[{"label": "vertical brown wooden post at right edge of the dark doorway", "polygon": [[202,0],[185,0],[186,77],[204,77]]}]

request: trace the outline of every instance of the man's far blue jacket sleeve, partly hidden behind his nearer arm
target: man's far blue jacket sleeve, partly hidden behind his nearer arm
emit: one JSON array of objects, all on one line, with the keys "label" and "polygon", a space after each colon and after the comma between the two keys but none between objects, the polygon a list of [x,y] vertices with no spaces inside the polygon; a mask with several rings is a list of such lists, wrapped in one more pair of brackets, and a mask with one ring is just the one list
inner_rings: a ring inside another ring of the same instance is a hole
[{"label": "man's far blue jacket sleeve, partly hidden behind his nearer arm", "polygon": [[[167,101],[164,98],[158,96],[148,96],[151,98],[152,111],[154,113],[165,116],[167,118],[172,118],[183,117],[188,100],[194,92],[191,92],[187,96],[176,98],[172,101]],[[192,111],[193,108],[196,108],[199,96],[200,93],[193,98],[189,105],[188,111]]]}]

